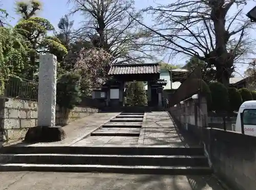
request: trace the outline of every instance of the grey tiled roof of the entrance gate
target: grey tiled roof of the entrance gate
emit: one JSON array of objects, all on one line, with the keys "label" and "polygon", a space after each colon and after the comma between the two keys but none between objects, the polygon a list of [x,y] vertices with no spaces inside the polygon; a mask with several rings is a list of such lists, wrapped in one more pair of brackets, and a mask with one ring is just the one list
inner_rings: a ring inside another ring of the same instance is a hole
[{"label": "grey tiled roof of the entrance gate", "polygon": [[118,64],[110,68],[109,75],[160,73],[158,64]]}]

